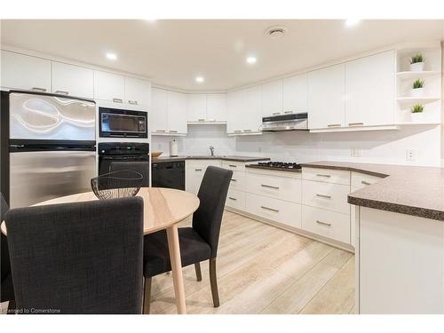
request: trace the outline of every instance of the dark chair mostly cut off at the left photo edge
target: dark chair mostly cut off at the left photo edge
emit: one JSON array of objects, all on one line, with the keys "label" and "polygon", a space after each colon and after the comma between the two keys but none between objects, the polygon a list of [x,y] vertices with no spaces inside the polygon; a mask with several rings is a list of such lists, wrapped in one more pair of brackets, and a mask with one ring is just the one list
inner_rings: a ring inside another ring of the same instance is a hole
[{"label": "dark chair mostly cut off at the left photo edge", "polygon": [[[4,220],[4,215],[9,210],[9,206],[4,200],[3,194],[1,194],[1,208],[0,208],[0,223]],[[12,285],[11,263],[9,261],[8,239],[2,234],[1,242],[1,275],[0,281],[0,302],[9,301],[8,309],[13,309],[14,304],[14,287]]]}]

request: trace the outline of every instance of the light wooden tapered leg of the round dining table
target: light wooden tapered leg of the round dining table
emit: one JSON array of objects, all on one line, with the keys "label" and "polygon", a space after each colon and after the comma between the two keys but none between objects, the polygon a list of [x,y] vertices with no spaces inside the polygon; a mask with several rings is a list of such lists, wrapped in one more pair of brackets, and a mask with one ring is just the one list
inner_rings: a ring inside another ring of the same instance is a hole
[{"label": "light wooden tapered leg of the round dining table", "polygon": [[174,294],[178,305],[178,314],[186,313],[184,278],[182,276],[182,262],[180,259],[180,245],[178,242],[178,226],[167,228],[168,250],[170,251],[172,281]]}]

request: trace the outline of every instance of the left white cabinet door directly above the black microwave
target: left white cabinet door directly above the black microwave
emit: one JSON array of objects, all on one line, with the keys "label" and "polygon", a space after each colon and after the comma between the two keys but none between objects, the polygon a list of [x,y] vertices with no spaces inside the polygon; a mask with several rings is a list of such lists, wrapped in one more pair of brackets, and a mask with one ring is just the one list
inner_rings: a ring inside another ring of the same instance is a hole
[{"label": "left white cabinet door directly above the black microwave", "polygon": [[125,79],[123,75],[94,71],[94,99],[124,101]]}]

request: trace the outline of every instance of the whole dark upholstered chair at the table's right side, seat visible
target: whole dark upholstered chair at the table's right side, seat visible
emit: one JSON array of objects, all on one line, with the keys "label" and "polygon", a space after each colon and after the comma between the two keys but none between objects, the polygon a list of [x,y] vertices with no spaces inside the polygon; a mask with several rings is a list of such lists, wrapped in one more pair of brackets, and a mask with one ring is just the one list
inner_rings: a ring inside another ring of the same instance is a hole
[{"label": "whole dark upholstered chair at the table's right side, seat visible", "polygon": [[[194,212],[193,226],[178,228],[182,266],[194,264],[197,281],[202,281],[200,263],[210,260],[210,285],[214,307],[219,305],[216,258],[220,225],[226,202],[226,193],[233,176],[232,170],[209,166],[199,188],[201,203]],[[170,254],[166,232],[144,237],[144,313],[149,313],[151,280],[157,274],[170,272]]]}]

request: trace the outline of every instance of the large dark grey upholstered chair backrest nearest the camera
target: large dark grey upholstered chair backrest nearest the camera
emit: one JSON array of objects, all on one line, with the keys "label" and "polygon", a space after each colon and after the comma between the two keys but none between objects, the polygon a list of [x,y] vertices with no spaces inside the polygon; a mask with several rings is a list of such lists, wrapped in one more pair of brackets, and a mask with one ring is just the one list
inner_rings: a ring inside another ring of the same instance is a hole
[{"label": "large dark grey upholstered chair backrest nearest the camera", "polygon": [[143,199],[9,210],[17,309],[141,313]]}]

